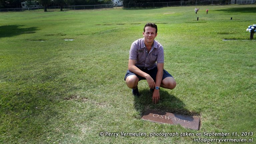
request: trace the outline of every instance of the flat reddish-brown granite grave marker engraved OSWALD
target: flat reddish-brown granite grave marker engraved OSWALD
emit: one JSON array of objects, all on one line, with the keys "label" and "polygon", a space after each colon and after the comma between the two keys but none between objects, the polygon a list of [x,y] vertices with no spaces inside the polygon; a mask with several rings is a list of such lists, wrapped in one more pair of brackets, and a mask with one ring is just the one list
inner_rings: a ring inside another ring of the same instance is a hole
[{"label": "flat reddish-brown granite grave marker engraved OSWALD", "polygon": [[159,112],[155,110],[147,110],[142,116],[143,120],[166,123],[166,124],[180,124],[185,128],[190,128],[194,130],[199,130],[200,118],[192,117],[181,114],[173,114],[167,112]]}]

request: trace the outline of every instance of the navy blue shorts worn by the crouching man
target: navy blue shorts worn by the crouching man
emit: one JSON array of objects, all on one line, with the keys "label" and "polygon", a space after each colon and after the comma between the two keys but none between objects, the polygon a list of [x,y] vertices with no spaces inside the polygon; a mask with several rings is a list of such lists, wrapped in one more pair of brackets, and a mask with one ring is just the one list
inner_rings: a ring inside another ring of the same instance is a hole
[{"label": "navy blue shorts worn by the crouching man", "polygon": [[[138,67],[138,68],[139,68],[139,67]],[[143,71],[143,72],[149,74],[149,75],[153,78],[153,80],[156,82],[157,67],[155,67],[155,68],[153,68],[153,69],[151,69],[151,70],[148,70],[148,69],[141,69],[141,68],[139,68],[139,69],[140,69],[141,71]],[[127,70],[127,73],[125,74],[124,80],[126,80],[126,78],[127,78],[128,76],[130,76],[130,75],[136,75],[136,76],[139,78],[139,81],[140,81],[140,80],[145,80],[144,77],[139,76],[139,75],[137,75],[137,74],[135,74],[135,73],[133,73],[133,72],[131,72],[131,71],[129,71],[129,70]],[[162,80],[165,79],[166,77],[173,77],[173,76],[172,76],[171,74],[169,74],[169,73],[164,69]]]}]

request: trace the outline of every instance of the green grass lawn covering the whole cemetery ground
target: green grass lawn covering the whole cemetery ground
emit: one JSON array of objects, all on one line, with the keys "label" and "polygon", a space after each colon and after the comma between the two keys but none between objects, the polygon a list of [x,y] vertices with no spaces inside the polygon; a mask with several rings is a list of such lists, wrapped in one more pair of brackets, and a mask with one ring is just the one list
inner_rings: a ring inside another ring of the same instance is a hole
[{"label": "green grass lawn covering the whole cemetery ground", "polygon": [[[256,41],[246,28],[256,24],[256,5],[198,8],[197,14],[195,6],[0,13],[0,143],[255,143]],[[157,24],[164,68],[177,81],[174,90],[160,90],[158,104],[146,81],[139,82],[140,97],[124,81],[131,43],[142,38],[147,22]],[[144,121],[147,109],[200,117],[200,130]]]}]

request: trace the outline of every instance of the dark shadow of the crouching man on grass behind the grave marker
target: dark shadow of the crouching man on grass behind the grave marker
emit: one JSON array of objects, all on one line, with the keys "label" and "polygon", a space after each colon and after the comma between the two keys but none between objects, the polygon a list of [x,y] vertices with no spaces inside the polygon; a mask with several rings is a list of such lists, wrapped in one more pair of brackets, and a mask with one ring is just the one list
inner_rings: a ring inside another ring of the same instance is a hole
[{"label": "dark shadow of the crouching man on grass behind the grave marker", "polygon": [[200,115],[199,112],[193,112],[186,109],[185,104],[179,98],[169,94],[165,90],[160,90],[160,102],[157,104],[152,102],[152,92],[150,92],[149,89],[143,89],[139,92],[140,96],[134,97],[134,107],[140,112],[141,117],[148,109],[189,116]]}]

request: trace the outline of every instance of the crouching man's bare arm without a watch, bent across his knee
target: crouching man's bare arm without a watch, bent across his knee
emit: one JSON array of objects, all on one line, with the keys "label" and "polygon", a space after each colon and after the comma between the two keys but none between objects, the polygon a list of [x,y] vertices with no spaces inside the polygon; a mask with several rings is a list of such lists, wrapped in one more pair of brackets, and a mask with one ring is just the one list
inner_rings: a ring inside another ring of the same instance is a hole
[{"label": "crouching man's bare arm without a watch, bent across his knee", "polygon": [[[128,61],[128,70],[137,74],[137,75],[139,75],[139,76],[142,76],[142,77],[146,78],[146,80],[148,82],[148,86],[151,89],[153,89],[155,87],[155,81],[152,79],[152,77],[149,74],[141,71],[138,67],[136,67],[135,63],[136,63],[136,60],[129,59],[129,61]],[[161,81],[160,81],[160,84],[161,84]],[[159,86],[160,86],[160,84],[159,84]]]}]

